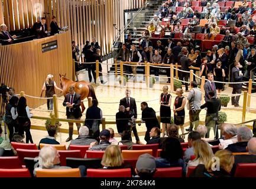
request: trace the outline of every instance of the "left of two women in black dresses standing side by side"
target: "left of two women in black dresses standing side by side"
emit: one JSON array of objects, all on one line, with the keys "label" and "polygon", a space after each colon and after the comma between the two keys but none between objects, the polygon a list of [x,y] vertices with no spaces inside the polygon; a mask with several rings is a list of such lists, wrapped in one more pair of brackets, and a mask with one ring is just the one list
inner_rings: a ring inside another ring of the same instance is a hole
[{"label": "left of two women in black dresses standing side by side", "polygon": [[[160,95],[159,99],[160,103],[160,117],[161,117],[161,123],[162,124],[162,132],[163,137],[166,133],[166,127],[168,131],[168,127],[171,123],[171,94],[168,93],[168,86],[163,87],[163,93]],[[168,133],[168,132],[167,132]]]}]

